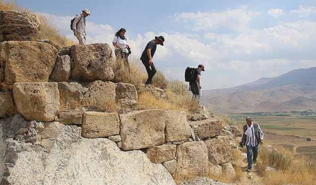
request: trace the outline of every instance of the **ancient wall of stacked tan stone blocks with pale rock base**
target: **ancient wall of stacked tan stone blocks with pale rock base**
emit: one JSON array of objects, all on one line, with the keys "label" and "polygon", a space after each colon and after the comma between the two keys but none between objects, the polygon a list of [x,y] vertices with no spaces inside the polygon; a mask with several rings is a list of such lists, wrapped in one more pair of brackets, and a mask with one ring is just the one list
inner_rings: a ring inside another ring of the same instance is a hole
[{"label": "ancient wall of stacked tan stone blocks with pale rock base", "polygon": [[[23,15],[0,11],[0,22]],[[218,137],[222,123],[210,111],[118,111],[138,95],[133,84],[111,81],[109,44],[31,41],[40,30],[36,15],[28,20],[0,26],[0,79],[12,85],[0,93],[1,185],[174,185],[233,173],[230,139]]]}]

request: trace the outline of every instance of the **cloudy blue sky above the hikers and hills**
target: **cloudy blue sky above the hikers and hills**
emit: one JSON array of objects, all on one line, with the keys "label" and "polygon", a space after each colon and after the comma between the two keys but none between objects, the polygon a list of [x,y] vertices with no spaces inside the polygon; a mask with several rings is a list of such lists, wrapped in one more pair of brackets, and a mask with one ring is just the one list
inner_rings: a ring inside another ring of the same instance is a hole
[{"label": "cloudy blue sky above the hikers and hills", "polygon": [[[70,20],[88,8],[88,43],[112,46],[127,30],[131,60],[148,41],[165,37],[153,58],[167,77],[184,80],[187,66],[204,64],[202,90],[228,88],[261,77],[316,66],[316,0],[16,0],[53,17],[75,39]],[[143,66],[140,66],[141,68]]]}]

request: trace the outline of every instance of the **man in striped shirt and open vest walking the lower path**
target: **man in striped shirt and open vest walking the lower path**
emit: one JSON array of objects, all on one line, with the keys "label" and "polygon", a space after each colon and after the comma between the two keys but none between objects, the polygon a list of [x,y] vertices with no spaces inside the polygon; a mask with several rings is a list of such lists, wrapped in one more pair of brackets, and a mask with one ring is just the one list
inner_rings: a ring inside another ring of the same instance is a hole
[{"label": "man in striped shirt and open vest walking the lower path", "polygon": [[254,164],[257,162],[259,143],[263,144],[263,132],[259,124],[253,122],[251,117],[246,117],[246,122],[247,124],[243,126],[243,134],[239,145],[247,147],[247,172],[251,172],[252,161]]}]

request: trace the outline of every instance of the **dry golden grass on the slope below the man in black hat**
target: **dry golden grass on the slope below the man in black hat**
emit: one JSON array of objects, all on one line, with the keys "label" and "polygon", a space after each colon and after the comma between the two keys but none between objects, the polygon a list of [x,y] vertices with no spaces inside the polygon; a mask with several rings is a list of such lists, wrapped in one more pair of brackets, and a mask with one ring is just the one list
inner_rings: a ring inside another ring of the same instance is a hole
[{"label": "dry golden grass on the slope below the man in black hat", "polygon": [[187,85],[177,79],[166,79],[162,72],[158,71],[153,78],[155,87],[161,88],[168,95],[168,100],[154,97],[143,86],[147,79],[147,73],[141,62],[130,60],[130,73],[124,69],[122,61],[113,60],[112,68],[115,73],[114,82],[133,84],[138,93],[137,110],[162,109],[196,112],[198,102],[192,100],[187,90]]}]

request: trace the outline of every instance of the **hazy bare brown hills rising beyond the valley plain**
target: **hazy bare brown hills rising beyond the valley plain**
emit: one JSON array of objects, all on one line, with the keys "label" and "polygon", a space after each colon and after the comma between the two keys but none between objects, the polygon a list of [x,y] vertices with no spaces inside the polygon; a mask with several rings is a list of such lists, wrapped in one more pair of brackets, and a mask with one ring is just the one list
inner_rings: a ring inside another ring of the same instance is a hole
[{"label": "hazy bare brown hills rising beyond the valley plain", "polygon": [[201,102],[214,112],[316,109],[316,67],[226,89],[203,90]]}]

